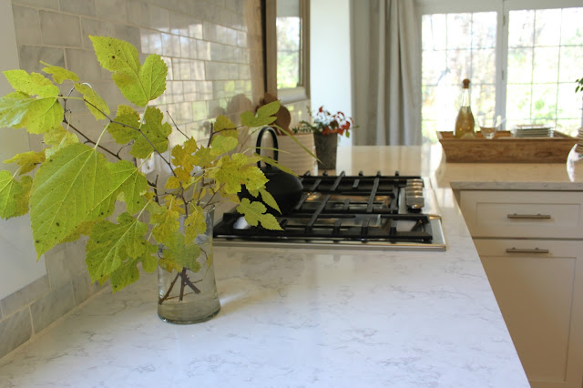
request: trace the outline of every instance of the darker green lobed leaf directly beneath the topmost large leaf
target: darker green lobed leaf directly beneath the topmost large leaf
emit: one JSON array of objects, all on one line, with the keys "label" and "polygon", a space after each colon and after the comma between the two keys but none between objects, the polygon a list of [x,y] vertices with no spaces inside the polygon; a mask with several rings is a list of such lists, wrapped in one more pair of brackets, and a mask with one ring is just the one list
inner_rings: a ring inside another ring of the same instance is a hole
[{"label": "darker green lobed leaf directly beneath the topmost large leaf", "polygon": [[[144,125],[141,128],[143,136],[136,138],[129,153],[136,158],[148,158],[154,151],[150,143],[160,153],[168,149],[168,136],[172,132],[169,123],[162,123],[164,114],[158,107],[148,107],[144,113]],[[146,138],[149,139],[149,142]]]}]

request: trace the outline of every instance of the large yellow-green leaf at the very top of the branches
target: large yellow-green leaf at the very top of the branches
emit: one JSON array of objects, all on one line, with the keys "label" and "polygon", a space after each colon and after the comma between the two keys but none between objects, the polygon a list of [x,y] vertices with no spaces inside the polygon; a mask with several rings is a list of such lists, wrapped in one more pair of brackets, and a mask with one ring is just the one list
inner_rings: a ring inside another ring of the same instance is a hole
[{"label": "large yellow-green leaf at the very top of the branches", "polygon": [[138,50],[114,37],[89,36],[101,66],[113,72],[112,78],[121,93],[138,107],[159,97],[166,88],[168,67],[158,55],[139,63]]}]

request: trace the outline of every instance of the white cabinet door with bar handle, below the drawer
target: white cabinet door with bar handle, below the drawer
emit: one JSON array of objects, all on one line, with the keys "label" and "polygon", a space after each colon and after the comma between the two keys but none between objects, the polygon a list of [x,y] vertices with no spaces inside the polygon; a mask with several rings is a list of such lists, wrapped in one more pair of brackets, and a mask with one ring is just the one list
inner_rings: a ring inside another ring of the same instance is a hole
[{"label": "white cabinet door with bar handle, below the drawer", "polygon": [[581,388],[583,242],[475,243],[531,385]]}]

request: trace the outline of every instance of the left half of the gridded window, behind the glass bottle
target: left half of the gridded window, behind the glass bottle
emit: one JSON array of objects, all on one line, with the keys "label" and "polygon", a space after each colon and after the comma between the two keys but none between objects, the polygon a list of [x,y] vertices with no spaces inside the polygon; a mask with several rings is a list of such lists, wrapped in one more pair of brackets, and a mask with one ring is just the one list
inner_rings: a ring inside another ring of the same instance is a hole
[{"label": "left half of the gridded window, behind the glass bottle", "polygon": [[495,106],[496,12],[422,16],[422,128],[452,131],[462,80],[470,78],[472,110]]}]

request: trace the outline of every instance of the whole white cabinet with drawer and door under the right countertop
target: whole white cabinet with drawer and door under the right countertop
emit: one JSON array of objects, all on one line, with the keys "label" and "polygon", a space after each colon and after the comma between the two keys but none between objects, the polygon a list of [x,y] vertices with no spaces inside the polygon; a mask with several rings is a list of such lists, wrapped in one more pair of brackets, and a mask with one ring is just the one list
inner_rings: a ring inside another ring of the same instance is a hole
[{"label": "whole white cabinet with drawer and door under the right countertop", "polygon": [[463,190],[460,208],[534,388],[583,386],[583,193]]}]

